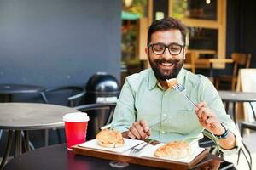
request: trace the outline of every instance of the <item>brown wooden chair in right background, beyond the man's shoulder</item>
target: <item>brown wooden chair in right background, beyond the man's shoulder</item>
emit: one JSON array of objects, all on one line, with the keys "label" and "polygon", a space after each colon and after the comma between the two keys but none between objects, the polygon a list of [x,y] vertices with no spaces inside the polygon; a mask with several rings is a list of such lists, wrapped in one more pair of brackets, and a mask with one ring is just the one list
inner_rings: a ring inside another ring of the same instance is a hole
[{"label": "brown wooden chair in right background, beyond the man's shoulder", "polygon": [[241,54],[241,53],[233,53],[231,54],[231,58],[234,59],[233,65],[233,74],[232,75],[221,75],[216,78],[216,88],[219,89],[221,86],[221,82],[230,82],[231,89],[236,89],[237,75],[238,70],[243,66],[244,68],[249,68],[251,63],[251,54]]}]

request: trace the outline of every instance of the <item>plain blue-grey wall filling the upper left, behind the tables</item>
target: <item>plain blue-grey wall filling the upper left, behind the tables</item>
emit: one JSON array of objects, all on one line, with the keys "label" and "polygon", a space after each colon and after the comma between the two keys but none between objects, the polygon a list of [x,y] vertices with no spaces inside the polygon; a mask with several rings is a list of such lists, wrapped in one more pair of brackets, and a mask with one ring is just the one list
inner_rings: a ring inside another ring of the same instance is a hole
[{"label": "plain blue-grey wall filling the upper left, behind the tables", "polygon": [[0,0],[0,83],[84,85],[119,79],[119,0]]}]

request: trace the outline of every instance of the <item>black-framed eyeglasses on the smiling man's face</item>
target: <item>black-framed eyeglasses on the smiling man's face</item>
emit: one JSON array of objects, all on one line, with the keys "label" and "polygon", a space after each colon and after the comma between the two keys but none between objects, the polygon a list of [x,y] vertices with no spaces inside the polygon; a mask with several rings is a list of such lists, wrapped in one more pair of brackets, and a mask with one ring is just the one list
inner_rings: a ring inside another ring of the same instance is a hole
[{"label": "black-framed eyeglasses on the smiling man's face", "polygon": [[148,45],[148,48],[150,47],[152,48],[153,53],[156,55],[164,54],[166,51],[166,48],[168,48],[170,54],[178,55],[181,53],[182,49],[185,46],[180,45],[178,43],[170,43],[169,45],[166,45],[164,43],[153,43]]}]

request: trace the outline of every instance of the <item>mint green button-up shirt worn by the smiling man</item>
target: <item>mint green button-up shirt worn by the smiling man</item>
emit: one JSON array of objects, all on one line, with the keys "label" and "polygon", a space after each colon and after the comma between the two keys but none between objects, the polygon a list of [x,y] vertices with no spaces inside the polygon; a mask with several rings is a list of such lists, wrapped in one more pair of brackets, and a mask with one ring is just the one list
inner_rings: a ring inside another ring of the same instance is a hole
[{"label": "mint green button-up shirt worn by the smiling man", "polygon": [[[177,82],[183,84],[185,93],[195,104],[205,101],[218,115],[219,122],[224,122],[238,137],[236,144],[241,144],[235,123],[226,114],[217,90],[207,77],[182,69]],[[174,140],[193,142],[202,138],[204,130],[195,115],[195,107],[175,89],[162,88],[151,68],[126,77],[114,111],[112,128],[125,132],[138,120],[148,122],[151,139],[164,143]]]}]

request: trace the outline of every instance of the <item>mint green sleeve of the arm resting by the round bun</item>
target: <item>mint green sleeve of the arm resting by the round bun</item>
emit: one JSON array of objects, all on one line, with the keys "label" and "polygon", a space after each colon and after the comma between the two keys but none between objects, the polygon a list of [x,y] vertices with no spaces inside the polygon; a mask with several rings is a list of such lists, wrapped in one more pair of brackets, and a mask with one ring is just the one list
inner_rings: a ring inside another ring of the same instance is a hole
[{"label": "mint green sleeve of the arm resting by the round bun", "polygon": [[134,102],[135,93],[126,78],[113,114],[112,129],[118,130],[120,133],[129,130],[131,124],[136,121],[137,111]]}]

